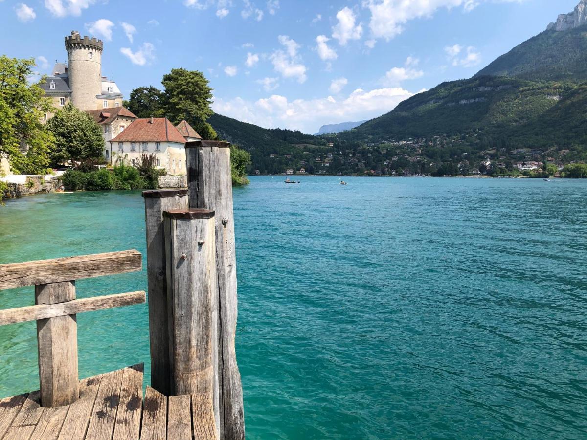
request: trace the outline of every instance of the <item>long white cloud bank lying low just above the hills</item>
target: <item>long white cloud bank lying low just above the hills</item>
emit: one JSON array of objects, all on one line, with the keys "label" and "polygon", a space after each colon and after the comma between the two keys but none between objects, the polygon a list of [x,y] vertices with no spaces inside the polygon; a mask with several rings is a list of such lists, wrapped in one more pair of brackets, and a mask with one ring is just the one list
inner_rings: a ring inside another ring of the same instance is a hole
[{"label": "long white cloud bank lying low just above the hills", "polygon": [[230,100],[214,97],[212,108],[216,113],[261,127],[286,127],[303,133],[316,133],[323,124],[380,116],[410,96],[413,93],[401,87],[393,87],[370,91],[357,89],[341,100],[332,96],[294,101],[280,95],[257,101],[240,97]]}]

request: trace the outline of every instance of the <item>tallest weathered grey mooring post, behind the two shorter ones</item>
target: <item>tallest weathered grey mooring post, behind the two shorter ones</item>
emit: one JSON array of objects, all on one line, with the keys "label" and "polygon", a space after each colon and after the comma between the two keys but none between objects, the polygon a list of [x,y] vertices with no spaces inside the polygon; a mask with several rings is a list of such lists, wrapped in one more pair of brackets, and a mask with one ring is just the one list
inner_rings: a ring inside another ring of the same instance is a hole
[{"label": "tallest weathered grey mooring post, behind the two shorter ones", "polygon": [[197,141],[185,144],[190,208],[215,211],[218,277],[218,405],[220,438],[245,438],[241,374],[234,341],[237,328],[237,263],[234,243],[230,144]]}]

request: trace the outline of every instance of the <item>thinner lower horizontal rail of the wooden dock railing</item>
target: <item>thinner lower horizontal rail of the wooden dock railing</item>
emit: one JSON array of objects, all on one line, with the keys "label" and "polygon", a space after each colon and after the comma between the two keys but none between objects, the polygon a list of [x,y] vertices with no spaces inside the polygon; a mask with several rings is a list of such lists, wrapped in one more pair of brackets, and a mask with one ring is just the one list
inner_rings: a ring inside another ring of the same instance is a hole
[{"label": "thinner lower horizontal rail of the wooden dock railing", "polygon": [[146,294],[141,290],[140,292],[74,299],[65,303],[39,304],[37,306],[18,307],[18,309],[0,310],[0,326],[82,312],[94,312],[95,310],[113,309],[114,307],[132,306],[133,304],[143,304],[145,301]]}]

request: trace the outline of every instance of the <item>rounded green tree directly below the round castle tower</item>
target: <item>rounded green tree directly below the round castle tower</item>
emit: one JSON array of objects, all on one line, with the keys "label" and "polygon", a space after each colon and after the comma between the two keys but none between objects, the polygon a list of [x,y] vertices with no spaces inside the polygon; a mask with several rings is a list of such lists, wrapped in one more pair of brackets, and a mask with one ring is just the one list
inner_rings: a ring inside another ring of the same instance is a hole
[{"label": "rounded green tree directly below the round castle tower", "polygon": [[47,123],[49,131],[55,136],[55,148],[51,152],[53,164],[68,160],[83,162],[102,157],[104,139],[102,128],[85,111],[80,111],[72,103],[58,110]]}]

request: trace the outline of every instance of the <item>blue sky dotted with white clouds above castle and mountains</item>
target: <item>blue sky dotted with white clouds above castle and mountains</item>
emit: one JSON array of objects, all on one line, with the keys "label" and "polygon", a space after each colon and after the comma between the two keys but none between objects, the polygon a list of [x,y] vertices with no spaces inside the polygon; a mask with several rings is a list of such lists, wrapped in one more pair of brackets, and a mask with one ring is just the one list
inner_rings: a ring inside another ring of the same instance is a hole
[{"label": "blue sky dotted with white clouds above castle and mountains", "polygon": [[470,77],[578,0],[0,0],[0,53],[50,73],[72,30],[128,97],[201,70],[217,113],[315,133]]}]

